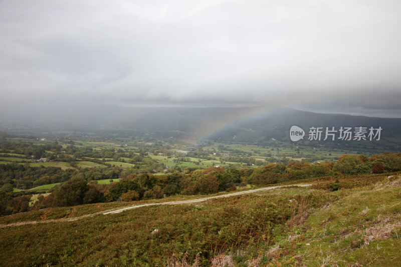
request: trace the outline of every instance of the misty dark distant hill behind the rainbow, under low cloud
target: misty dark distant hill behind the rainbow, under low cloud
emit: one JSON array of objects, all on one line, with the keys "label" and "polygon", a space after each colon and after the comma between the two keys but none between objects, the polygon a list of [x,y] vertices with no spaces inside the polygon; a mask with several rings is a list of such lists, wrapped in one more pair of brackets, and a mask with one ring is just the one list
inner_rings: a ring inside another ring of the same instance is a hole
[{"label": "misty dark distant hill behind the rainbow, under low cloud", "polygon": [[[154,133],[160,137],[258,142],[289,141],[292,125],[381,127],[381,140],[399,143],[401,119],[321,114],[282,107],[130,108],[115,105],[44,106],[32,112],[0,114],[0,130],[13,133],[55,131]],[[325,128],[323,128],[325,129]],[[305,138],[304,138],[305,140]]]}]

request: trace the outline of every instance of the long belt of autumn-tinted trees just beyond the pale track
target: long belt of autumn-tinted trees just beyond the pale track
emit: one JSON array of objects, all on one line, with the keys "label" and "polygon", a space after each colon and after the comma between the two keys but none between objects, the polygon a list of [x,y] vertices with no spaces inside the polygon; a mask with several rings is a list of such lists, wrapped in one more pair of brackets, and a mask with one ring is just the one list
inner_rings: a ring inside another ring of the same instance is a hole
[{"label": "long belt of autumn-tinted trees just beyond the pale track", "polygon": [[[5,215],[26,211],[29,208],[70,206],[115,200],[132,201],[162,198],[174,194],[211,194],[224,190],[236,190],[237,186],[245,186],[247,183],[267,185],[327,175],[401,171],[401,153],[384,153],[370,157],[344,155],[337,162],[326,161],[313,164],[291,161],[287,165],[284,163],[268,164],[259,168],[212,167],[193,169],[187,174],[176,171],[165,175],[153,175],[152,173],[119,172],[118,168],[106,169],[104,171],[110,172],[109,177],[115,177],[118,174],[123,176],[119,182],[108,185],[97,184],[96,179],[104,177],[102,176],[104,173],[99,171],[75,171],[71,179],[55,188],[49,196],[41,197],[33,207],[27,205],[29,199],[26,196],[13,197],[11,183],[3,184],[0,188],[0,212]],[[59,174],[41,176],[39,180],[51,181],[55,175]],[[336,186],[338,187],[334,184],[332,189],[335,190]]]}]

